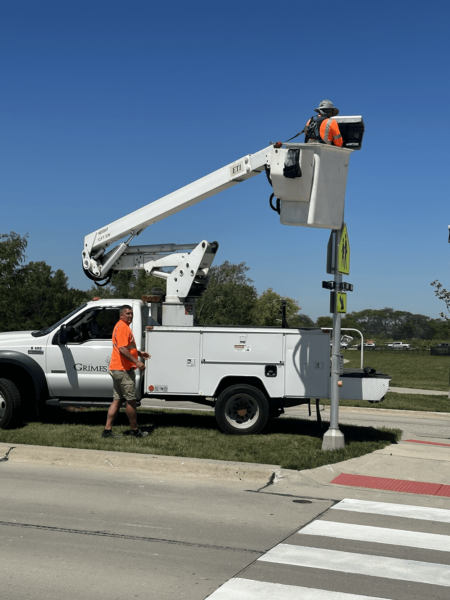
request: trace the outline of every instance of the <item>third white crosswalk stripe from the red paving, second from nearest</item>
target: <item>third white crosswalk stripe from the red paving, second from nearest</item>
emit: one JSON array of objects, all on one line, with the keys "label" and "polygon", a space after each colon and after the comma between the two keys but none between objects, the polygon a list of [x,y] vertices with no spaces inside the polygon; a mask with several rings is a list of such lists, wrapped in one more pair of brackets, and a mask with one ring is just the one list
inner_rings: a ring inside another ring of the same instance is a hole
[{"label": "third white crosswalk stripe from the red paving, second from nearest", "polygon": [[450,587],[448,565],[279,544],[260,561]]}]

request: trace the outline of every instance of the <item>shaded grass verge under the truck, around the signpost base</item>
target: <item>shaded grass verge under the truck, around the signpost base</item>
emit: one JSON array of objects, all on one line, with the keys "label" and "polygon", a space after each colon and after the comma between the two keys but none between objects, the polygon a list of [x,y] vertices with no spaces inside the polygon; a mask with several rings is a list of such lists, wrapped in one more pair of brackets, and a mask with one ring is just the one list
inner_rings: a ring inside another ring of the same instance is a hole
[{"label": "shaded grass verge under the truck, around the signpost base", "polygon": [[[300,470],[363,456],[401,437],[398,429],[343,425],[346,447],[324,452],[322,437],[328,423],[322,430],[306,420],[271,419],[260,435],[229,436],[219,431],[210,412],[140,410],[140,427],[151,432],[148,437],[105,440],[101,438],[105,417],[104,410],[70,413],[57,409],[50,422],[0,430],[0,442],[275,464]],[[114,431],[127,429],[126,416],[121,412]]]}]

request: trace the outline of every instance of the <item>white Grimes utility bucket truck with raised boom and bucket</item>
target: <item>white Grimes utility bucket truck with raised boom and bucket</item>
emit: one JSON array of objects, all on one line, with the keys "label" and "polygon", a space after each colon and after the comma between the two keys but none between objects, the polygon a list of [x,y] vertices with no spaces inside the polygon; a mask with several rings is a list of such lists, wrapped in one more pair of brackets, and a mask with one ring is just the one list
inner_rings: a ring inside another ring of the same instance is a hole
[{"label": "white Grimes utility bucket truck with raised boom and bucket", "polygon": [[[22,420],[27,408],[39,414],[45,405],[109,404],[111,334],[122,304],[133,308],[138,349],[152,356],[144,374],[137,372],[139,399],[211,405],[225,432],[250,434],[285,407],[328,398],[329,332],[197,324],[195,301],[207,288],[216,242],[130,242],[149,225],[262,171],[273,187],[270,202],[281,223],[340,229],[350,148],[360,147],[363,125],[361,117],[337,120],[347,147],[278,142],[87,235],[82,262],[91,280],[104,284],[114,272],[144,269],[166,280],[166,293],[93,300],[40,331],[0,334],[0,427]],[[389,380],[373,369],[343,370],[341,398],[379,402]]]}]

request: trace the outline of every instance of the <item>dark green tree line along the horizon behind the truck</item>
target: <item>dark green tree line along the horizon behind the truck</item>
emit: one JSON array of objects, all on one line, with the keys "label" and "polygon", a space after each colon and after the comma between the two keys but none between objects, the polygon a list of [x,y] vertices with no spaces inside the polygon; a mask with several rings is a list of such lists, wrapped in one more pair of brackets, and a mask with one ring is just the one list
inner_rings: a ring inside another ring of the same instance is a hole
[{"label": "dark green tree line along the horizon behind the truck", "polygon": [[[149,277],[145,271],[120,271],[109,285],[93,285],[87,291],[69,287],[61,269],[53,271],[44,261],[26,262],[27,244],[27,236],[15,232],[0,234],[0,331],[51,325],[93,297],[140,298],[155,288],[165,291],[165,281]],[[199,324],[281,326],[280,306],[285,300],[290,327],[332,326],[330,316],[313,321],[301,312],[297,300],[282,296],[273,288],[258,294],[248,271],[244,262],[225,261],[212,267],[208,288],[197,301]],[[348,313],[342,318],[342,327],[356,328],[366,339],[373,337],[380,343],[389,339],[445,341],[450,337],[450,322],[443,313],[433,319],[393,308]]]}]

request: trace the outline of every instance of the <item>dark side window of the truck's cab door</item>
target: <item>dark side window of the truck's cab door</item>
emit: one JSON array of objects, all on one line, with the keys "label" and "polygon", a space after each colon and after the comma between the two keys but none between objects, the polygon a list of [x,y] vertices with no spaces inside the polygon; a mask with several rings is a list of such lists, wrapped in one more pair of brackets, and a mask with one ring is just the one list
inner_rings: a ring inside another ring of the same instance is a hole
[{"label": "dark side window of the truck's cab door", "polygon": [[68,342],[83,344],[89,340],[110,340],[118,320],[119,308],[91,308],[68,323]]}]

